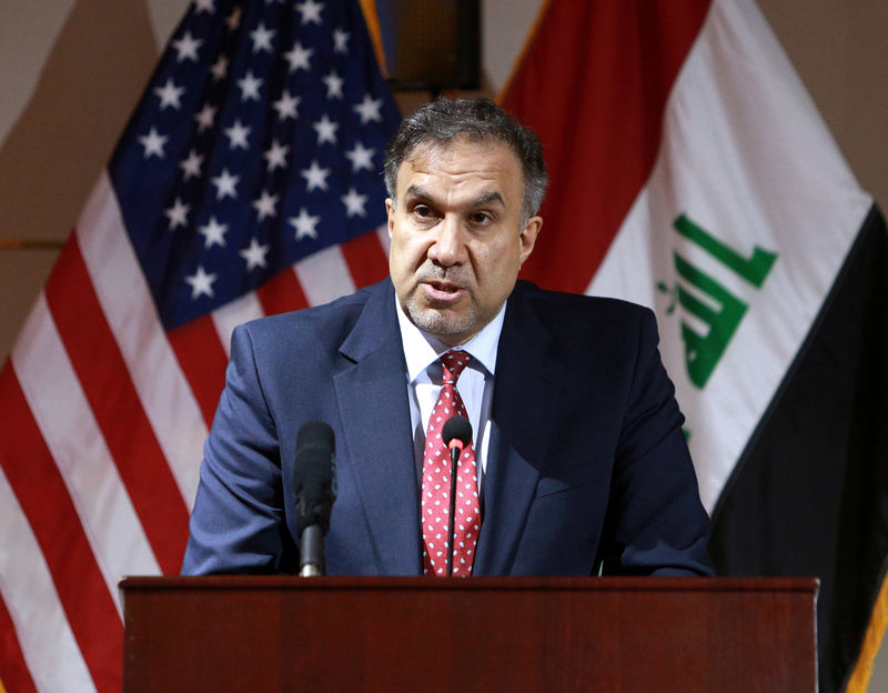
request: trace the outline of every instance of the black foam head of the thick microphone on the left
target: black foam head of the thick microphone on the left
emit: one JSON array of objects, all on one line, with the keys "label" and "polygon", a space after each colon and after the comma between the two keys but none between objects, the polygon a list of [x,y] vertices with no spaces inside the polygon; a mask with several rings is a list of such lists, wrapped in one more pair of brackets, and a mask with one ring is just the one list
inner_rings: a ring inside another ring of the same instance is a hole
[{"label": "black foam head of the thick microphone on the left", "polygon": [[336,500],[336,449],[333,429],[323,421],[309,421],[296,433],[293,491],[296,495],[296,530],[319,524],[330,529],[330,513]]}]

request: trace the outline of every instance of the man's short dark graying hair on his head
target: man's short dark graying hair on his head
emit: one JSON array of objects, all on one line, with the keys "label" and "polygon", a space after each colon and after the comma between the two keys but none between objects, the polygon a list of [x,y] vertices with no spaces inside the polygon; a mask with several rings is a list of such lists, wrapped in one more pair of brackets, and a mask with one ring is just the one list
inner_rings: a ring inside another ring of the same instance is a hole
[{"label": "man's short dark graying hair on his head", "polygon": [[502,142],[509,147],[524,170],[524,219],[539,210],[548,173],[536,133],[521,124],[490,99],[440,98],[401,122],[385,148],[385,189],[395,201],[397,171],[413,151],[425,143],[447,147],[457,137],[473,142]]}]

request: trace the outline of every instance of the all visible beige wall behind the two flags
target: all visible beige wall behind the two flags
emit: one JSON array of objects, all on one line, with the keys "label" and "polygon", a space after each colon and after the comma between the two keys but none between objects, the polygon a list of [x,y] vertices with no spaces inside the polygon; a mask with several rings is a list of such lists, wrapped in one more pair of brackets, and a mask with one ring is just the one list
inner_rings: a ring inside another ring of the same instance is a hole
[{"label": "all visible beige wall behind the two flags", "polygon": [[[482,0],[484,86],[508,76],[541,0]],[[186,0],[0,2],[0,243],[61,242]],[[860,183],[888,207],[888,2],[759,0]],[[58,251],[0,245],[0,360]],[[888,654],[870,687],[888,692]]]}]

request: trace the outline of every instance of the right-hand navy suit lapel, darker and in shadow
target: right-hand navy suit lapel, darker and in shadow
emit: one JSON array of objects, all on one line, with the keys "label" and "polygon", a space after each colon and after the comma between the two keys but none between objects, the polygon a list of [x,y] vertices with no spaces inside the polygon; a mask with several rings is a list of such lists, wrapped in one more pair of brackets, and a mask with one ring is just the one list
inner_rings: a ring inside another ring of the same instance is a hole
[{"label": "right-hand navy suit lapel, darker and in shadow", "polygon": [[509,574],[555,426],[564,366],[521,287],[506,308],[496,361],[484,518],[473,574]]}]

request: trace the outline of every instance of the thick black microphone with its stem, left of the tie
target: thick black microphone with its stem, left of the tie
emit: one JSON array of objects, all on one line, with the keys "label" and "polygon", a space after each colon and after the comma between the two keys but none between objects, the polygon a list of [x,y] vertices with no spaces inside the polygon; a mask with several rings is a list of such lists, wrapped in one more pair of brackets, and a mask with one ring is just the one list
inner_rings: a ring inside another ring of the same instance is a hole
[{"label": "thick black microphone with its stem, left of the tie", "polygon": [[330,513],[336,500],[335,451],[333,429],[326,423],[302,424],[296,434],[293,469],[302,576],[324,574],[324,535],[330,530]]}]

